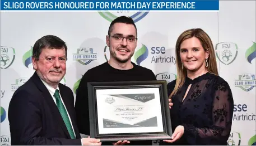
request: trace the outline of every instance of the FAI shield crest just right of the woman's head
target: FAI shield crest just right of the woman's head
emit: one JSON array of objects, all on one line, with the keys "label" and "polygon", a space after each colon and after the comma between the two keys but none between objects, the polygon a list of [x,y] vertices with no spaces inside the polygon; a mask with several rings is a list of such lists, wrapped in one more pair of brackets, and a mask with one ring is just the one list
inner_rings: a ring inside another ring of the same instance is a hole
[{"label": "FAI shield crest just right of the woman's head", "polygon": [[231,64],[238,55],[238,45],[232,42],[217,43],[215,48],[216,56],[222,64]]}]

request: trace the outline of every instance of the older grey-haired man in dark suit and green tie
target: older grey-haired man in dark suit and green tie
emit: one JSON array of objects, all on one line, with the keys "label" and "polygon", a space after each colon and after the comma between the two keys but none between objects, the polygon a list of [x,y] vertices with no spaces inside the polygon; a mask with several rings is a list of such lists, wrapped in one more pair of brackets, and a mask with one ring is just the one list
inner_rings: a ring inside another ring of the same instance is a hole
[{"label": "older grey-haired man in dark suit and green tie", "polygon": [[101,145],[99,139],[81,139],[72,90],[59,83],[66,74],[66,43],[44,36],[32,53],[35,73],[15,91],[9,105],[11,144]]}]

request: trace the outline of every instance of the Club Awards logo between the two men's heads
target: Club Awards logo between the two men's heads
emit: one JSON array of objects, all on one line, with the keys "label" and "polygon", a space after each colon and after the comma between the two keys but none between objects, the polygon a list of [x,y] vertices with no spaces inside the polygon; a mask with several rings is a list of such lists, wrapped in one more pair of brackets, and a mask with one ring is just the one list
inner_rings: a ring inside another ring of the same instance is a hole
[{"label": "Club Awards logo between the two men's heads", "polygon": [[82,65],[87,65],[91,61],[97,60],[97,53],[94,53],[94,49],[91,47],[80,47],[77,48],[77,53],[73,53],[73,60]]}]

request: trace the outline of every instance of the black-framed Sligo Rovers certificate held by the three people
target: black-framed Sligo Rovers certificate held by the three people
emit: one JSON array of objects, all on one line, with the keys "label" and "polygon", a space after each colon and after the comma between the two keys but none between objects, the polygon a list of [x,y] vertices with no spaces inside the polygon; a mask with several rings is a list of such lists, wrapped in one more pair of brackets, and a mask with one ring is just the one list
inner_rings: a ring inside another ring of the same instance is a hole
[{"label": "black-framed Sligo Rovers certificate held by the three people", "polygon": [[91,138],[171,139],[166,81],[88,82],[88,94]]}]

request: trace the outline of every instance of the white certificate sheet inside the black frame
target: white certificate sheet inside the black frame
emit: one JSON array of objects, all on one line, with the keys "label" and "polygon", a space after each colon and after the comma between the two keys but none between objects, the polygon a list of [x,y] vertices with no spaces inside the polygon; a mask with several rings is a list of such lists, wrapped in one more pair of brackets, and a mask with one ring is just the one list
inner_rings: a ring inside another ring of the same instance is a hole
[{"label": "white certificate sheet inside the black frame", "polygon": [[159,87],[96,89],[99,134],[164,132]]}]

